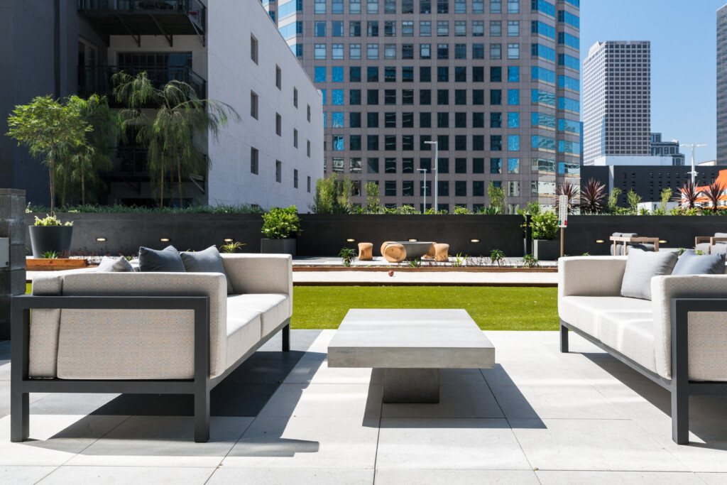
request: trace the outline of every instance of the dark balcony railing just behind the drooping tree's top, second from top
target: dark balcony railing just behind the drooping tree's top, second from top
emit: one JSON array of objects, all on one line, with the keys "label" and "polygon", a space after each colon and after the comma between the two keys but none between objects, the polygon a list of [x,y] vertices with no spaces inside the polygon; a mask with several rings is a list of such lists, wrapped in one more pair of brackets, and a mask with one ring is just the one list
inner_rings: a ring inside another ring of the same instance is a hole
[{"label": "dark balcony railing just behind the drooping tree's top, second from top", "polygon": [[[121,69],[113,65],[99,65],[79,70],[79,95],[98,94],[111,97],[113,92],[111,76],[119,71]],[[206,81],[186,66],[132,68],[124,69],[124,72],[132,76],[140,72],[146,72],[154,87],[157,88],[164,86],[169,81],[183,81],[194,89],[197,97],[206,97]]]}]

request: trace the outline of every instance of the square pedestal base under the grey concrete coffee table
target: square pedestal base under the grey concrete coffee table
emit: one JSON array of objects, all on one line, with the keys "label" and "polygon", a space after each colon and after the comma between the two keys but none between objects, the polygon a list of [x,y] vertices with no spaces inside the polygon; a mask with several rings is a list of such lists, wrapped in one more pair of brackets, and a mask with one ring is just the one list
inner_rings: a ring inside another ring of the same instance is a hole
[{"label": "square pedestal base under the grey concrete coffee table", "polygon": [[439,402],[439,369],[384,369],[387,404]]}]

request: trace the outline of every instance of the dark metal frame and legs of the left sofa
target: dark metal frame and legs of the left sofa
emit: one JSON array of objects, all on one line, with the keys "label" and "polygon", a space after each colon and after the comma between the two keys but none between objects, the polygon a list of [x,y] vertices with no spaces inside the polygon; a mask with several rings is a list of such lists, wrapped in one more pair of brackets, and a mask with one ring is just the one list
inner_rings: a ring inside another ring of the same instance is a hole
[{"label": "dark metal frame and legs of the left sofa", "polygon": [[[25,441],[29,433],[29,393],[136,393],[192,394],[194,396],[194,441],[209,440],[209,393],[240,364],[283,331],[283,351],[290,350],[290,318],[257,342],[217,377],[209,377],[209,297],[12,297],[10,441]],[[194,377],[191,380],[69,380],[28,376],[30,321],[33,308],[83,310],[193,310]]]}]

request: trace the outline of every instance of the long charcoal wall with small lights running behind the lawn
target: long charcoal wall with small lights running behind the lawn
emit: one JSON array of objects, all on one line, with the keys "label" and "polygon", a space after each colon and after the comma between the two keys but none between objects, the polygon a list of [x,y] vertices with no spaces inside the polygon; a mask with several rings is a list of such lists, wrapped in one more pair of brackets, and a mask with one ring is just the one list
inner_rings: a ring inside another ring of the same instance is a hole
[{"label": "long charcoal wall with small lights running behind the lawn", "polygon": [[[39,214],[45,216],[45,214]],[[260,252],[262,217],[248,214],[60,214],[73,220],[73,246],[78,254],[132,254],[139,246],[204,249],[233,239],[242,252]],[[33,214],[26,215],[32,225]],[[299,256],[335,256],[342,247],[384,241],[435,241],[449,244],[450,254],[486,256],[500,249],[510,257],[523,253],[523,217],[519,215],[300,215]],[[26,229],[25,246],[31,247]],[[587,216],[568,218],[566,254],[608,254],[608,236],[635,232],[657,236],[664,247],[693,247],[695,236],[727,232],[727,216]],[[99,241],[98,239],[105,239]],[[169,239],[169,241],[160,241]],[[353,239],[353,241],[348,241]],[[604,241],[598,243],[596,241]]]}]

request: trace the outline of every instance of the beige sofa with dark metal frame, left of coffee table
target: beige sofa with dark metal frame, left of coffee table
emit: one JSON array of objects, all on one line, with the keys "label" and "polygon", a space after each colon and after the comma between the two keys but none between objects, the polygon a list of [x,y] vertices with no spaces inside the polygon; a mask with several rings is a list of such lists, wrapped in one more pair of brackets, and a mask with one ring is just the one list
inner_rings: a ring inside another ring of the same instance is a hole
[{"label": "beige sofa with dark metal frame, left of coffee table", "polygon": [[[28,438],[28,393],[193,394],[195,441],[209,392],[283,331],[292,257],[222,254],[222,273],[60,271],[12,300],[11,440]],[[32,311],[32,318],[31,312]]]}]

